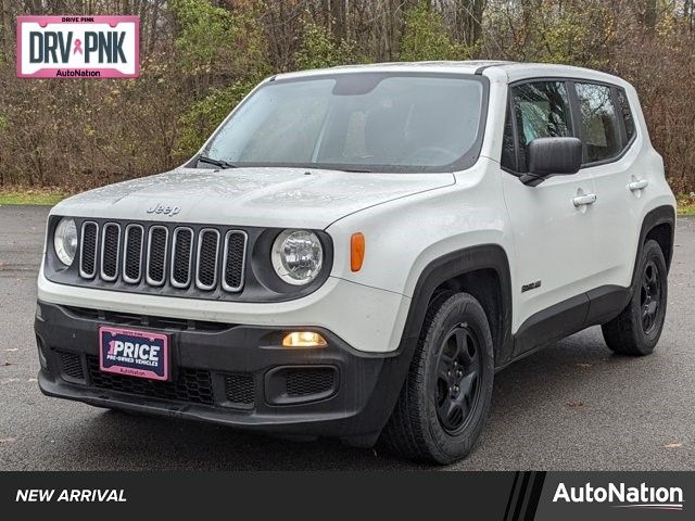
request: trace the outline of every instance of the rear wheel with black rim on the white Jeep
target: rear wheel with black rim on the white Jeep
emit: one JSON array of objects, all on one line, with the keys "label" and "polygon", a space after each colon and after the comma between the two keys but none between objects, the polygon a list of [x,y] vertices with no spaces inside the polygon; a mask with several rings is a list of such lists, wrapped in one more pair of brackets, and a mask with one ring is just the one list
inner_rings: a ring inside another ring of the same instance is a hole
[{"label": "rear wheel with black rim on the white Jeep", "polygon": [[656,241],[644,244],[635,270],[637,282],[630,303],[620,315],[602,326],[606,345],[619,355],[650,354],[666,319],[667,268]]}]

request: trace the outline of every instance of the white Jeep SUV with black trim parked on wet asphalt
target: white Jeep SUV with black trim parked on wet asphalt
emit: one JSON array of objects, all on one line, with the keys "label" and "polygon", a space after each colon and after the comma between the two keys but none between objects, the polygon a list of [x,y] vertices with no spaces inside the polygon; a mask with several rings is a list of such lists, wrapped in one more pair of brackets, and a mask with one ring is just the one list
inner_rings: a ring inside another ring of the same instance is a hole
[{"label": "white Jeep SUV with black trim parked on wet asphalt", "polygon": [[615,76],[280,74],[185,166],[51,211],[39,384],[451,462],[511,361],[594,325],[618,354],[654,350],[674,207]]}]

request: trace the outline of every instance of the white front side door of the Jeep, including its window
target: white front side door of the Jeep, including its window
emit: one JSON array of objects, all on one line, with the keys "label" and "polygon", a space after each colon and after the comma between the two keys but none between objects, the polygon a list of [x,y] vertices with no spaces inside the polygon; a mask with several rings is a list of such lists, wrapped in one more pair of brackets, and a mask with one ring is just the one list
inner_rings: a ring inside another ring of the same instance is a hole
[{"label": "white front side door of the Jeep, including its window", "polygon": [[587,309],[585,292],[596,270],[591,174],[554,176],[535,187],[520,181],[532,140],[577,136],[570,106],[563,80],[526,81],[509,89],[501,163],[515,244],[515,354],[581,329]]}]

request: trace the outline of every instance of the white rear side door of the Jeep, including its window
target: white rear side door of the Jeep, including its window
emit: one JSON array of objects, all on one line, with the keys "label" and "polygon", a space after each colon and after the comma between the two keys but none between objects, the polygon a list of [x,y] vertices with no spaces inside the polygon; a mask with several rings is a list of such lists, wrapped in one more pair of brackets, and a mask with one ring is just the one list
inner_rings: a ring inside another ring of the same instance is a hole
[{"label": "white rear side door of the Jeep, including its window", "polygon": [[577,80],[577,119],[583,145],[582,168],[596,187],[592,208],[594,244],[601,270],[594,288],[630,285],[640,236],[642,193],[649,176],[636,162],[632,113],[622,89]]}]

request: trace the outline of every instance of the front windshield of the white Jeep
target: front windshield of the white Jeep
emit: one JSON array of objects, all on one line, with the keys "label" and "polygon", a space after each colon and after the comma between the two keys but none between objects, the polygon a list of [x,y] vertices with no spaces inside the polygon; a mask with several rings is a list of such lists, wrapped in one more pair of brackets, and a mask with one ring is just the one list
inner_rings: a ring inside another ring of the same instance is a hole
[{"label": "front windshield of the white Jeep", "polygon": [[235,166],[466,167],[480,148],[483,96],[483,81],[464,75],[350,73],[269,81],[205,153]]}]

